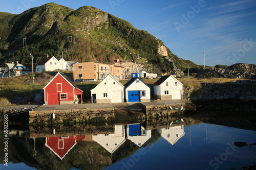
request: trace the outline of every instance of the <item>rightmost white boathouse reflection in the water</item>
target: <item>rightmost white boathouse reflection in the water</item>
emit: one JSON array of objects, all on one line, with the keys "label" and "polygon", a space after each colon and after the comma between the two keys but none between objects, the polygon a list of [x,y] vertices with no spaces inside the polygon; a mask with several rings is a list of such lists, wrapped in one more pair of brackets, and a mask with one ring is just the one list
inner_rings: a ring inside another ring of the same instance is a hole
[{"label": "rightmost white boathouse reflection in the water", "polygon": [[157,131],[165,140],[167,140],[172,145],[174,145],[182,136],[185,135],[183,125],[157,129]]}]

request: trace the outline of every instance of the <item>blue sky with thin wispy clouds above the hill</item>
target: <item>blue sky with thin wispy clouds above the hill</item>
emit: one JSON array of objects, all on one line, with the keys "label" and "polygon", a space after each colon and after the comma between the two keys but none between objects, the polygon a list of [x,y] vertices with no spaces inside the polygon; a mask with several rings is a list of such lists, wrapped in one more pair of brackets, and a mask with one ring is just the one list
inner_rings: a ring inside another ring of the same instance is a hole
[{"label": "blue sky with thin wispy clouds above the hill", "polygon": [[20,14],[51,2],[108,12],[199,65],[256,64],[255,0],[9,0],[2,1],[0,11]]}]

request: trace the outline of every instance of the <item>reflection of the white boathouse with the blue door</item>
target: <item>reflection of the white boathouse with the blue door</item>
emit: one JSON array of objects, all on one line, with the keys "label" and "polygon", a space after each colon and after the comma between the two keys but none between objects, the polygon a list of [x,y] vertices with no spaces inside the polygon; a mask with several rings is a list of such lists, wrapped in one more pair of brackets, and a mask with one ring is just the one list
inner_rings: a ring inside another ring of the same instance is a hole
[{"label": "reflection of the white boathouse with the blue door", "polygon": [[151,130],[146,130],[140,124],[127,125],[127,139],[135,143],[138,147],[151,138]]}]

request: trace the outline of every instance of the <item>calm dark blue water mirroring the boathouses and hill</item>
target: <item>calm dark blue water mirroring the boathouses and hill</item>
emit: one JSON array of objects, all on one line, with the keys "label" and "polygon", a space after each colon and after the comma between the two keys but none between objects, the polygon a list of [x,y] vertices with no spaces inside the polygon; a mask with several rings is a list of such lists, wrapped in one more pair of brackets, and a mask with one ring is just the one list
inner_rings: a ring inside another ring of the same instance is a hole
[{"label": "calm dark blue water mirroring the boathouses and hill", "polygon": [[[9,133],[9,163],[1,160],[0,169],[240,169],[256,158],[255,131],[203,123],[160,129],[116,125],[82,135],[46,131],[39,138]],[[0,146],[3,158],[5,145]]]}]

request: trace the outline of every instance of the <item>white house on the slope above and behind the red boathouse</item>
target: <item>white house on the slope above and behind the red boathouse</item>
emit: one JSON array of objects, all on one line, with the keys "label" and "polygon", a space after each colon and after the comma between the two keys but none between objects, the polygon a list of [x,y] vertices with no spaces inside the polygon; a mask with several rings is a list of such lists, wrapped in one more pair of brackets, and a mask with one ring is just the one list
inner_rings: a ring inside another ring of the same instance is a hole
[{"label": "white house on the slope above and behind the red boathouse", "polygon": [[60,64],[60,62],[54,56],[49,57],[47,55],[46,58],[41,59],[35,65],[35,71],[36,72],[41,72],[43,70],[54,71],[56,69],[62,69],[62,65]]}]

